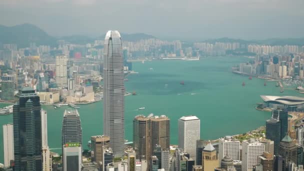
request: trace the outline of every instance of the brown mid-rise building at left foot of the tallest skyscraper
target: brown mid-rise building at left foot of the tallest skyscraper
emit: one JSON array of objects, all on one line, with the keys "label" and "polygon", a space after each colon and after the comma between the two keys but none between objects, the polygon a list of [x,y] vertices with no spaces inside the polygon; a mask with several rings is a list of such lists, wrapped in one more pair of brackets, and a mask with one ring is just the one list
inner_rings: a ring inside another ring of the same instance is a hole
[{"label": "brown mid-rise building at left foot of the tallest skyscraper", "polygon": [[106,135],[91,136],[92,161],[99,163],[103,160],[103,147],[109,147],[110,137]]}]

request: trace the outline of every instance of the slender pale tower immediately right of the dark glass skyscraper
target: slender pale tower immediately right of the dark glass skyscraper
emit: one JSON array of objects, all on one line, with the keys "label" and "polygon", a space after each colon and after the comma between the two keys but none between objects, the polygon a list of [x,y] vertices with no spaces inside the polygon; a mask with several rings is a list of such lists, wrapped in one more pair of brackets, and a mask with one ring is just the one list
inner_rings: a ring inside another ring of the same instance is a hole
[{"label": "slender pale tower immediately right of the dark glass skyscraper", "polygon": [[51,169],[51,155],[47,144],[47,113],[41,109],[41,132],[42,132],[42,170]]}]

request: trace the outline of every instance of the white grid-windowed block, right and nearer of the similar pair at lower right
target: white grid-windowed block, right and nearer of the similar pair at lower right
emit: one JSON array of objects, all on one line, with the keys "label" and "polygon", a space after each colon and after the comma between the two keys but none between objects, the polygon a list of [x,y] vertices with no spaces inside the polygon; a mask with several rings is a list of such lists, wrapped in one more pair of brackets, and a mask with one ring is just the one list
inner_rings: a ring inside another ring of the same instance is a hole
[{"label": "white grid-windowed block, right and nearer of the similar pair at lower right", "polygon": [[257,157],[262,155],[265,150],[264,144],[257,139],[242,141],[241,170],[252,171],[253,166],[257,165]]}]

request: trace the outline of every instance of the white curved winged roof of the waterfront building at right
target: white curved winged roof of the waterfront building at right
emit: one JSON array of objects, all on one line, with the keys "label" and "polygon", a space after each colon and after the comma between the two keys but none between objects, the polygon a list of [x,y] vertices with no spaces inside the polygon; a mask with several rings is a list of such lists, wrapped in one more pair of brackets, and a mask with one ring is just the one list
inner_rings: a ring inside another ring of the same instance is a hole
[{"label": "white curved winged roof of the waterfront building at right", "polygon": [[260,95],[260,97],[265,101],[274,101],[286,105],[297,105],[303,104],[304,98],[297,96],[272,96],[272,95]]}]

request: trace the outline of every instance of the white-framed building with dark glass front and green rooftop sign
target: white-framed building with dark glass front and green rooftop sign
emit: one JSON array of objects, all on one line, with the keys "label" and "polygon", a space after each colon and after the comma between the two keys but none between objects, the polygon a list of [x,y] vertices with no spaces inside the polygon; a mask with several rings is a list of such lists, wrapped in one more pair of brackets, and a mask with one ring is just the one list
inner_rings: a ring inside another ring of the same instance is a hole
[{"label": "white-framed building with dark glass front and green rooftop sign", "polygon": [[80,171],[82,148],[79,142],[67,142],[62,145],[63,171]]}]

